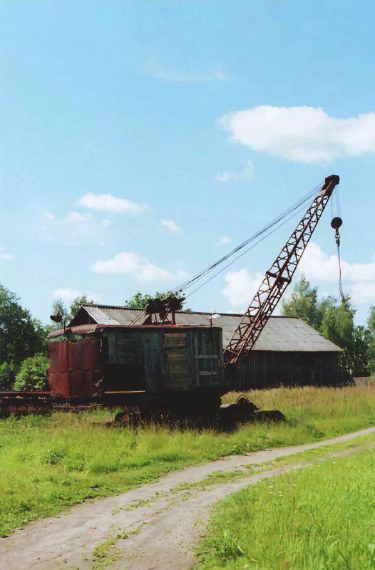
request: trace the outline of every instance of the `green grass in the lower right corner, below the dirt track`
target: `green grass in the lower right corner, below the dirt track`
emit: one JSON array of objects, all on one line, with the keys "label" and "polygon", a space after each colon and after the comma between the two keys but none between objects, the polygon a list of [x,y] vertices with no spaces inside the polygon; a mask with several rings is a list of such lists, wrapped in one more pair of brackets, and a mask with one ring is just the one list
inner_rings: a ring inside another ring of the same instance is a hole
[{"label": "green grass in the lower right corner, below the dirt track", "polygon": [[215,508],[200,570],[375,568],[374,450],[263,480]]}]

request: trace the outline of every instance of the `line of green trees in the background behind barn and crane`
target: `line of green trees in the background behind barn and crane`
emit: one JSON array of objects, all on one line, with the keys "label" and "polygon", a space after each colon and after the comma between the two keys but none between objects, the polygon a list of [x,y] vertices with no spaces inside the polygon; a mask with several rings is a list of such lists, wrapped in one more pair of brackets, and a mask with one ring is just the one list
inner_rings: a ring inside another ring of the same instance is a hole
[{"label": "line of green trees in the background behind barn and crane", "polygon": [[[155,296],[162,297],[157,292]],[[139,292],[125,301],[125,306],[145,307],[150,295]],[[79,296],[69,308],[61,299],[53,303],[53,314],[60,314],[68,324],[81,303],[92,304],[88,296]],[[341,371],[353,376],[375,374],[375,306],[366,326],[356,326],[356,309],[350,299],[341,304],[332,296],[318,297],[317,287],[302,276],[292,294],[282,303],[284,316],[297,316],[325,338],[342,348]],[[48,387],[46,336],[61,323],[43,325],[24,309],[17,296],[0,285],[0,390],[43,390]]]}]

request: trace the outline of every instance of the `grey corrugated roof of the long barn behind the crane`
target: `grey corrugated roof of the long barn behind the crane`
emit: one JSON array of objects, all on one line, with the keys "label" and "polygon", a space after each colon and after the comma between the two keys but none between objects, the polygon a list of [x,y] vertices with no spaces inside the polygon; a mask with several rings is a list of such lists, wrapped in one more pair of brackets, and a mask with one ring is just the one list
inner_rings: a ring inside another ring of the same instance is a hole
[{"label": "grey corrugated roof of the long barn behind the crane", "polygon": [[[140,324],[143,309],[130,309],[123,306],[91,305],[81,306],[69,326],[100,324],[103,326],[129,326]],[[211,313],[177,311],[176,324],[180,326],[210,326]],[[220,313],[212,320],[212,326],[222,328],[222,345],[225,347],[232,338],[242,314]],[[272,316],[264,326],[253,348],[255,351],[277,352],[340,352],[341,348],[327,341],[314,328],[300,318]]]}]

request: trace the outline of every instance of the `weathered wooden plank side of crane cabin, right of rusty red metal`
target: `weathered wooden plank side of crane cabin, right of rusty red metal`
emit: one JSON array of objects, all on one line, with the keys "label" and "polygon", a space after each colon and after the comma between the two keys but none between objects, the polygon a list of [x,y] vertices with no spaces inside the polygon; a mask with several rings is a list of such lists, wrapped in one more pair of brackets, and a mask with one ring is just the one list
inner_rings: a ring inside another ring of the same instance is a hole
[{"label": "weathered wooden plank side of crane cabin, right of rusty red metal", "polygon": [[107,390],[180,392],[223,384],[220,328],[130,328],[105,331]]}]

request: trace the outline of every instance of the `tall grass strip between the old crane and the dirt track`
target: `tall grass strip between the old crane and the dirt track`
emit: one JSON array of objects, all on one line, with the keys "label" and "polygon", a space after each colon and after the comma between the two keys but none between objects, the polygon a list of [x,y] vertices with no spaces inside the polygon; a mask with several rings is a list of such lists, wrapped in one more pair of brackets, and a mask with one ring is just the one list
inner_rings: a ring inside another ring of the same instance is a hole
[{"label": "tall grass strip between the old crane and the dirt track", "polygon": [[[287,423],[235,432],[106,427],[106,411],[0,420],[0,536],[86,499],[123,492],[231,453],[297,445],[375,425],[375,386],[251,393]],[[227,400],[233,395],[227,395]]]}]

